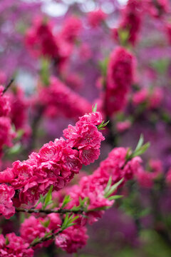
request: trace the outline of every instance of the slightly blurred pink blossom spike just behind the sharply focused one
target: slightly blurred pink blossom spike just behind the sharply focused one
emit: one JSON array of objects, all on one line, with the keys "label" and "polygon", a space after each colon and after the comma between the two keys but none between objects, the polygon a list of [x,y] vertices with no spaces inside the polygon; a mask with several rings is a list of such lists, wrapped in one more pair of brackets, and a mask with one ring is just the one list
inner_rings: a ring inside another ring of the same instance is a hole
[{"label": "slightly blurred pink blossom spike just behind the sharply focused one", "polygon": [[[112,184],[124,178],[125,181],[133,178],[138,169],[141,169],[141,158],[135,157],[130,161],[126,161],[126,148],[114,148],[104,161],[100,163],[100,167],[90,176],[83,176],[78,185],[68,188],[68,194],[72,201],[68,203],[67,208],[79,206],[79,198],[84,199],[88,197],[88,210],[95,208],[106,208],[113,205],[114,201],[105,198],[105,187],[111,176]],[[85,215],[88,219],[82,218],[81,223],[93,223],[102,216],[104,211],[90,211]]]}]

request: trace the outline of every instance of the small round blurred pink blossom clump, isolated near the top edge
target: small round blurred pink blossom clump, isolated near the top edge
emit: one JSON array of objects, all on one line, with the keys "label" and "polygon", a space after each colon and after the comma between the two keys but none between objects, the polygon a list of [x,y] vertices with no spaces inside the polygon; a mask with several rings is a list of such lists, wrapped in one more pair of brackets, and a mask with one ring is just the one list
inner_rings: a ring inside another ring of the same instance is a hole
[{"label": "small round blurred pink blossom clump, isolated near the top edge", "polygon": [[96,28],[97,26],[99,26],[103,21],[105,21],[106,19],[106,14],[101,10],[95,10],[95,11],[90,11],[88,13],[88,23],[90,24],[90,26],[92,26],[93,28]]}]

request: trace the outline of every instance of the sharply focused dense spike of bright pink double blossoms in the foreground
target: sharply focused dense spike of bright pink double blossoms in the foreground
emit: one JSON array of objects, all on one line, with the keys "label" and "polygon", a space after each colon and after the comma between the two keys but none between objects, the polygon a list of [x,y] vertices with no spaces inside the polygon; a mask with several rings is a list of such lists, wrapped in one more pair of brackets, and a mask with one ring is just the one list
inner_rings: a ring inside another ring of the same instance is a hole
[{"label": "sharply focused dense spike of bright pink double blossoms in the foreground", "polygon": [[[76,126],[68,126],[63,138],[46,143],[26,161],[15,161],[12,168],[1,172],[0,183],[9,183],[15,190],[14,205],[31,206],[49,187],[58,191],[81,170],[83,164],[93,163],[100,155],[100,143],[105,138],[97,126],[100,113],[82,116]],[[3,197],[1,204],[4,204]],[[6,206],[4,205],[6,210]],[[12,215],[12,211],[11,211]]]}]

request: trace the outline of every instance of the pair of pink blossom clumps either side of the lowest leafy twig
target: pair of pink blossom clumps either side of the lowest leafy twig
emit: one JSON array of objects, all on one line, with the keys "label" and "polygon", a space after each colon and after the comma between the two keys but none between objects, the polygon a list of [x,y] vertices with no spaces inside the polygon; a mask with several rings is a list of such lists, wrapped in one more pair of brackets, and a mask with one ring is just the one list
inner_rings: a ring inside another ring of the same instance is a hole
[{"label": "pair of pink blossom clumps either side of the lowest leafy twig", "polygon": [[[30,244],[34,239],[41,238],[50,231],[57,233],[60,230],[61,223],[62,221],[58,213],[48,214],[46,218],[35,218],[34,216],[30,216],[21,224],[21,238],[26,243]],[[75,253],[79,248],[86,246],[88,239],[86,232],[86,227],[78,224],[68,227],[56,236],[55,244],[58,248],[61,248],[68,253]],[[45,241],[35,246],[35,248],[41,248],[43,246],[47,247],[51,243],[51,240]]]}]

